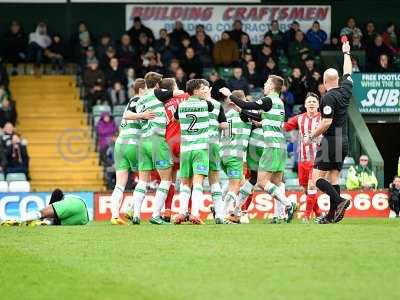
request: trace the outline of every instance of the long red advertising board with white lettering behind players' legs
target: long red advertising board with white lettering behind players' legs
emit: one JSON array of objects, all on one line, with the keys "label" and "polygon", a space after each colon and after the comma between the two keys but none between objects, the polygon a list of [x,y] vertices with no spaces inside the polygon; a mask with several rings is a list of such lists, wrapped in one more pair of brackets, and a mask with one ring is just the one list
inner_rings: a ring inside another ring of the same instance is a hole
[{"label": "long red advertising board with white lettering behind players' legs", "polygon": [[[389,217],[388,195],[386,190],[381,191],[343,191],[342,197],[350,199],[351,205],[347,209],[346,217]],[[297,217],[301,218],[306,206],[306,196],[301,192],[287,192],[287,196],[292,201],[300,205]],[[154,203],[154,194],[146,195],[142,206],[142,219],[151,216]],[[212,205],[211,195],[205,194],[204,201],[200,207],[201,217],[211,219],[210,206]],[[326,194],[318,196],[318,205],[323,211],[329,209],[329,197]],[[121,213],[128,211],[132,207],[132,193],[125,193],[121,203]],[[175,195],[172,202],[172,211],[177,213],[179,208],[179,194]],[[111,217],[111,194],[95,193],[94,196],[94,219],[109,220]],[[268,194],[258,192],[253,196],[253,201],[249,206],[250,218],[265,219],[270,218],[274,211],[274,201]]]}]

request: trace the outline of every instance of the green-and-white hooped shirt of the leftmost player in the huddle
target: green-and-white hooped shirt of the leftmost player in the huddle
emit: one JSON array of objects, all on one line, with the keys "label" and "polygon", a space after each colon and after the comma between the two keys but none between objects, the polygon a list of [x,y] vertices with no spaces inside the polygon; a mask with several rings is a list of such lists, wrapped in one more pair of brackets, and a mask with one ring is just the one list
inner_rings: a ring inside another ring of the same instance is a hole
[{"label": "green-and-white hooped shirt of the leftmost player in the huddle", "polygon": [[[139,97],[134,97],[129,100],[128,105],[125,108],[125,111],[129,110],[132,112],[136,112],[136,105]],[[140,122],[137,120],[121,120],[119,135],[116,140],[116,144],[124,144],[124,145],[136,145],[140,138]]]}]

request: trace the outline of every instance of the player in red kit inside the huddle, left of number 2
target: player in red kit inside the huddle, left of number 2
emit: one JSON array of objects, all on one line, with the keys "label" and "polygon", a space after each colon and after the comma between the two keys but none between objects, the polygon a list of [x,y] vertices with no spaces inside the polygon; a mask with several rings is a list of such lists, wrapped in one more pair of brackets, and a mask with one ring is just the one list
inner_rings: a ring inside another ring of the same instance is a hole
[{"label": "player in red kit inside the huddle, left of number 2", "polygon": [[[164,78],[160,87],[167,90],[178,89],[174,78]],[[186,101],[189,98],[188,93],[183,93],[179,96],[173,97],[164,104],[165,112],[167,115],[167,128],[165,138],[171,150],[172,158],[174,160],[174,166],[172,169],[172,184],[169,188],[167,198],[165,200],[165,211],[163,215],[164,221],[170,221],[171,219],[171,205],[172,199],[175,194],[175,179],[176,172],[179,170],[179,157],[180,157],[180,141],[181,141],[181,129],[179,122],[174,119],[174,113],[178,109],[179,103]]]}]

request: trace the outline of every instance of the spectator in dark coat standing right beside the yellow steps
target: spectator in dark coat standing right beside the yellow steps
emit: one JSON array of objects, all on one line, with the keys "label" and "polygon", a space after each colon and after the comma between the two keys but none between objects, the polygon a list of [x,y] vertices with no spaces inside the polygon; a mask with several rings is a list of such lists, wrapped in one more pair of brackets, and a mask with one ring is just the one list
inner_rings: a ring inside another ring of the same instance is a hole
[{"label": "spectator in dark coat standing right beside the yellow steps", "polygon": [[88,108],[91,111],[93,105],[104,102],[106,78],[99,69],[99,62],[93,60],[83,73],[83,84],[87,91]]}]

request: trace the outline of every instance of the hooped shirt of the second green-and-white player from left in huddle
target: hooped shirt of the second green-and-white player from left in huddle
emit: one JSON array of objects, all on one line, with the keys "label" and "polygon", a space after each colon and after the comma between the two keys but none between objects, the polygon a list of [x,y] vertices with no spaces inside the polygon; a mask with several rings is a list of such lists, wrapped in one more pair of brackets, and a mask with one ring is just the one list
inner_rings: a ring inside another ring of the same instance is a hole
[{"label": "hooped shirt of the second green-and-white player from left in huddle", "polygon": [[158,100],[154,94],[154,90],[149,90],[138,100],[136,111],[141,113],[150,110],[156,114],[151,120],[140,121],[142,138],[148,138],[153,135],[165,137],[167,127],[167,117],[164,104]]}]

